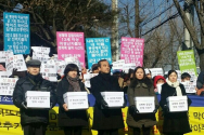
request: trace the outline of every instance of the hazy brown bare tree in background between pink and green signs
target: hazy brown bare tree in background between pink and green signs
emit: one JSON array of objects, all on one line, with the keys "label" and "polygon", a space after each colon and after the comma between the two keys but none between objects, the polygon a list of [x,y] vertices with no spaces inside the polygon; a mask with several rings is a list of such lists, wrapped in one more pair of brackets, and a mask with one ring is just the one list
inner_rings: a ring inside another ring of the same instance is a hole
[{"label": "hazy brown bare tree in background between pink and green signs", "polygon": [[[144,48],[144,66],[150,68],[170,66],[178,68],[177,51],[182,43],[182,28],[176,21],[169,21],[166,26],[158,28],[151,36]],[[166,32],[168,31],[168,32]],[[145,36],[146,38],[149,37]]]}]

